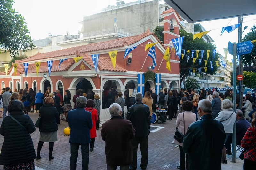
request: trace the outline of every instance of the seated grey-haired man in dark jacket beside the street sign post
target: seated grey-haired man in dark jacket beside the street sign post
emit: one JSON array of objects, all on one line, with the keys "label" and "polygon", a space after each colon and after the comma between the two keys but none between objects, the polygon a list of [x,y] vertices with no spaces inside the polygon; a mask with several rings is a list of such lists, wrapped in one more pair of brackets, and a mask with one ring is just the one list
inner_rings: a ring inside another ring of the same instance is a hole
[{"label": "seated grey-haired man in dark jacket beside the street sign post", "polygon": [[[243,112],[240,109],[236,110],[236,144],[240,145],[247,129],[250,127],[250,123],[244,118]],[[228,155],[232,155],[231,152],[232,136],[228,137],[225,143],[226,152]]]}]

